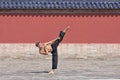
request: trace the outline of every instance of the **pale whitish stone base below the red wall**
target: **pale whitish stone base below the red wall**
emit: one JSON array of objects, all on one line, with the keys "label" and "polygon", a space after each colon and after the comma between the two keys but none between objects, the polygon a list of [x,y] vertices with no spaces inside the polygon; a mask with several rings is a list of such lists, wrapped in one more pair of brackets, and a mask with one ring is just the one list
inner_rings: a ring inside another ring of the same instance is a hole
[{"label": "pale whitish stone base below the red wall", "polygon": [[[73,44],[63,43],[58,47],[59,58],[110,58],[120,56],[120,44]],[[51,54],[39,54],[32,43],[0,43],[0,59],[51,59]]]}]

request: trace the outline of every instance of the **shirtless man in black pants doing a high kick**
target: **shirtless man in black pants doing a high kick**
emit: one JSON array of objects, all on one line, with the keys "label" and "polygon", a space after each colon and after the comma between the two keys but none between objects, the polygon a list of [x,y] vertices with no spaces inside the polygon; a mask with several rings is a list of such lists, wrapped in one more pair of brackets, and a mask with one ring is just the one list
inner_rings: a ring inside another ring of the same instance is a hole
[{"label": "shirtless man in black pants doing a high kick", "polygon": [[52,70],[49,72],[50,74],[54,74],[54,70],[57,69],[58,64],[58,52],[57,47],[59,43],[63,40],[65,33],[70,29],[70,26],[65,28],[63,31],[60,31],[60,34],[54,40],[49,42],[40,43],[36,42],[35,45],[39,48],[39,53],[43,55],[48,55],[48,53],[52,54]]}]

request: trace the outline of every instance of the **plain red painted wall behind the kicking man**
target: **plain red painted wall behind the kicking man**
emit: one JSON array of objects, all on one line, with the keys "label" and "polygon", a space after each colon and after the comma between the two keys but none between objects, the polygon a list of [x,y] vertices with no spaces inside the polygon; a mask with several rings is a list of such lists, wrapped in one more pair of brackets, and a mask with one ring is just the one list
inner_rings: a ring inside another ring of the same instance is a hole
[{"label": "plain red painted wall behind the kicking man", "polygon": [[0,14],[0,43],[49,41],[68,25],[65,43],[120,43],[118,14]]}]

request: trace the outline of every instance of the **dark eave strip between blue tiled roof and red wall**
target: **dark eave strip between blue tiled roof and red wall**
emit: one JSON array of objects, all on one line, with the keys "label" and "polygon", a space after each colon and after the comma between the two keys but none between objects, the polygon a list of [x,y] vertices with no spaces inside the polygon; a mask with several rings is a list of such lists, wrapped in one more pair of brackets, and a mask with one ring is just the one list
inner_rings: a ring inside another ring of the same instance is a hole
[{"label": "dark eave strip between blue tiled roof and red wall", "polygon": [[120,9],[0,9],[0,13],[120,13]]}]

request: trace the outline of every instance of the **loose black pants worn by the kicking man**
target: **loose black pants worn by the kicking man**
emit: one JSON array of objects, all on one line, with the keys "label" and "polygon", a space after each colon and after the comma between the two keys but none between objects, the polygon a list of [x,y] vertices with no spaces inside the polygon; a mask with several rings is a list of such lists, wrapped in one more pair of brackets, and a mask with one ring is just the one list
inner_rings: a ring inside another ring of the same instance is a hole
[{"label": "loose black pants worn by the kicking man", "polygon": [[57,65],[58,65],[58,52],[57,52],[57,47],[59,45],[59,43],[63,40],[65,33],[60,31],[59,37],[60,39],[57,39],[51,46],[53,51],[52,53],[52,69],[57,69]]}]

